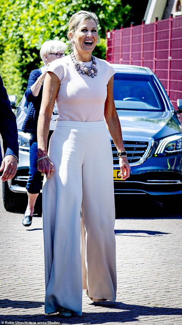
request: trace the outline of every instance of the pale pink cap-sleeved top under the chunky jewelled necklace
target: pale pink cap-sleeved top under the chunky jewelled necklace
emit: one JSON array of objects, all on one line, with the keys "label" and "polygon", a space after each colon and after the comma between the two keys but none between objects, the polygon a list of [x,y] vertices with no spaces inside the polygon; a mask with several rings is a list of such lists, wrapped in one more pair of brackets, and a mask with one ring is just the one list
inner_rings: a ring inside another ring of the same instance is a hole
[{"label": "pale pink cap-sleeved top under the chunky jewelled necklace", "polygon": [[[58,121],[93,122],[104,120],[104,104],[107,97],[107,84],[116,73],[105,60],[97,59],[97,75],[92,78],[78,73],[70,55],[54,60],[48,71],[54,72],[60,79],[60,88],[56,102]],[[91,62],[83,62],[91,67]]]}]

